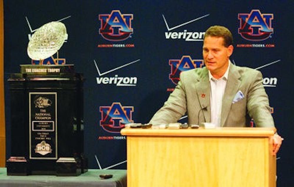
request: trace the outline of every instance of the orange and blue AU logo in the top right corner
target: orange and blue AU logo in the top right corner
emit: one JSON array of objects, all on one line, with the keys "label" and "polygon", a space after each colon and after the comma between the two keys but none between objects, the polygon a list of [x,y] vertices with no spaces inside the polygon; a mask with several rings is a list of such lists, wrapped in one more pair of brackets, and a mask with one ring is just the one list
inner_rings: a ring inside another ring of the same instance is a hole
[{"label": "orange and blue AU logo in the top right corner", "polygon": [[265,40],[274,32],[272,28],[273,14],[262,14],[260,10],[238,13],[240,27],[238,33],[246,40]]}]

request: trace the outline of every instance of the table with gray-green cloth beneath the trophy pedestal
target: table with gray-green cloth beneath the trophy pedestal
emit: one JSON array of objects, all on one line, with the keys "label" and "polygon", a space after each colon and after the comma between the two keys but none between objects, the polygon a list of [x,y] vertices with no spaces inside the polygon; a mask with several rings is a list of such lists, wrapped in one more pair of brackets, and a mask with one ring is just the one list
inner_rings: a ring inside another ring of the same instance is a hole
[{"label": "table with gray-green cloth beneath the trophy pedestal", "polygon": [[[112,174],[101,179],[100,174]],[[0,168],[0,187],[126,187],[126,170],[89,169],[80,176],[29,175],[7,176],[6,168]]]}]

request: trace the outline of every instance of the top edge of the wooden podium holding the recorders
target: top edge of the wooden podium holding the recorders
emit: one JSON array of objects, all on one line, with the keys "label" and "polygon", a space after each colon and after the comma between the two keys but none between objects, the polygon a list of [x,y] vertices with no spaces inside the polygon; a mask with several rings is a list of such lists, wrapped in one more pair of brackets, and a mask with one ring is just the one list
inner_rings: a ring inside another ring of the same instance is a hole
[{"label": "top edge of the wooden podium holding the recorders", "polygon": [[121,130],[126,136],[216,136],[216,137],[270,137],[275,127],[217,127],[214,129],[142,129],[126,127]]}]

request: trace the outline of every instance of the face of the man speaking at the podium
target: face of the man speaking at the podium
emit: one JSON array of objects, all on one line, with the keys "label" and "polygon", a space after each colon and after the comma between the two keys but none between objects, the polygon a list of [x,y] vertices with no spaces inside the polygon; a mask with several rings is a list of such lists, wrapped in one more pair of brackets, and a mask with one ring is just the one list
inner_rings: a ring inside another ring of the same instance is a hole
[{"label": "face of the man speaking at the podium", "polygon": [[219,79],[228,68],[229,57],[233,53],[233,46],[224,46],[222,37],[207,36],[203,41],[203,60],[212,76]]}]

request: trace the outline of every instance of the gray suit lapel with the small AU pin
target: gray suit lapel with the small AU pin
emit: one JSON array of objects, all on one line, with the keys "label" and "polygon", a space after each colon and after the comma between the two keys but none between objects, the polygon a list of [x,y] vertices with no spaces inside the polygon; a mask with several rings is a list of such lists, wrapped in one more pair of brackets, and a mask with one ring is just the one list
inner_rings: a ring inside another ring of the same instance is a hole
[{"label": "gray suit lapel with the small AU pin", "polygon": [[[200,110],[203,111],[204,121],[210,122],[210,82],[208,79],[208,69],[203,68],[203,71],[201,71],[196,83],[196,90],[201,107]],[[200,112],[199,115],[201,115]]]}]

